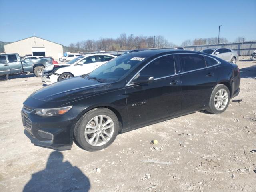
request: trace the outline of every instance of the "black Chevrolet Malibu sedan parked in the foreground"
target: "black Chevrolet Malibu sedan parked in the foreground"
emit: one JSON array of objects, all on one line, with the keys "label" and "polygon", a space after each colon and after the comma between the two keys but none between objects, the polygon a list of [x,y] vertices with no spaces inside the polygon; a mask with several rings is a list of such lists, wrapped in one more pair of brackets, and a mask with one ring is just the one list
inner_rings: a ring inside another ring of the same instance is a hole
[{"label": "black Chevrolet Malibu sedan parked in the foreground", "polygon": [[239,86],[237,65],[212,55],[133,52],[31,94],[21,111],[24,133],[37,146],[66,150],[75,139],[101,150],[118,133],[198,110],[220,114]]}]

